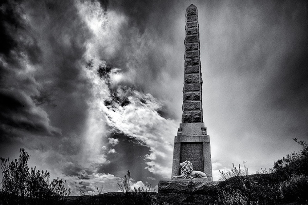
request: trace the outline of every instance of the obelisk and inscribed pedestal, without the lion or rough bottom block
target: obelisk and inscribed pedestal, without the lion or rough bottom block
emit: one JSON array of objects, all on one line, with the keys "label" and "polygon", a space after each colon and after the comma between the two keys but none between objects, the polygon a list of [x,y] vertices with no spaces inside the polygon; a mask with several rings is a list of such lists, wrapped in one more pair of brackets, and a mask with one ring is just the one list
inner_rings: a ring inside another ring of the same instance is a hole
[{"label": "obelisk and inscribed pedestal, without the lion or rough bottom block", "polygon": [[194,170],[204,172],[212,181],[210,138],[206,134],[202,115],[198,11],[193,4],[186,9],[185,30],[183,114],[177,136],[174,137],[172,177],[180,174],[180,163],[188,160]]}]

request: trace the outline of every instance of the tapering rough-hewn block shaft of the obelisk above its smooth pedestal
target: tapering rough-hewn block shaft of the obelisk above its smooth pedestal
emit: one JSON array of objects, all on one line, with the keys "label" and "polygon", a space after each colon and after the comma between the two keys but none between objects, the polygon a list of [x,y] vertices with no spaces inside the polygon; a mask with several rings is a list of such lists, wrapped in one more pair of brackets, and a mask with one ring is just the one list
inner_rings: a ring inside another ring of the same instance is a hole
[{"label": "tapering rough-hewn block shaft of the obelisk above its smooth pedestal", "polygon": [[182,123],[203,122],[199,24],[196,6],[191,5],[187,8],[185,30]]}]

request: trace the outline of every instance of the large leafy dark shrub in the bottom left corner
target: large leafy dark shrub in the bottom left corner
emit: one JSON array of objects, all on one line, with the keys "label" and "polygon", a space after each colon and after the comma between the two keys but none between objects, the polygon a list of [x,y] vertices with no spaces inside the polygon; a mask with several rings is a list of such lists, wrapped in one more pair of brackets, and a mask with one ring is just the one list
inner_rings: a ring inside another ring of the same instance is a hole
[{"label": "large leafy dark shrub in the bottom left corner", "polygon": [[30,169],[30,155],[20,149],[19,158],[9,162],[1,158],[2,188],[1,195],[4,204],[61,204],[71,190],[64,187],[62,179],[53,179],[47,171]]}]

